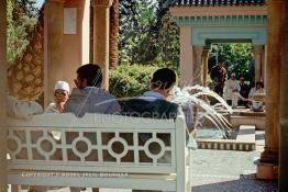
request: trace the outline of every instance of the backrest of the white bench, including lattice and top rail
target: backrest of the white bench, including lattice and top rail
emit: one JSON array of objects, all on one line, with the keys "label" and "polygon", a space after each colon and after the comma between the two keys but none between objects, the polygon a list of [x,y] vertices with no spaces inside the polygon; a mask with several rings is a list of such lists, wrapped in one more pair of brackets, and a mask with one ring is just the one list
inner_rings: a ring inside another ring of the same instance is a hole
[{"label": "backrest of the white bench, including lattice and top rail", "polygon": [[182,116],[42,114],[8,122],[10,170],[173,173],[184,167]]}]

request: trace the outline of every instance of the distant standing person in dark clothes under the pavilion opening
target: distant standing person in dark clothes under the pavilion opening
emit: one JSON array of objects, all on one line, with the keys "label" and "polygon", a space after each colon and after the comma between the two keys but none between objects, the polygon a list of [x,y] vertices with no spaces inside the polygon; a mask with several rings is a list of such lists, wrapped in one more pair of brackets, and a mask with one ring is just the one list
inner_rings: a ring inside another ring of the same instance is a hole
[{"label": "distant standing person in dark clothes under the pavilion opening", "polygon": [[218,65],[211,69],[210,74],[210,77],[214,83],[214,92],[217,92],[220,97],[223,97],[223,89],[228,79],[226,69],[223,64],[224,60],[222,58],[219,59]]}]

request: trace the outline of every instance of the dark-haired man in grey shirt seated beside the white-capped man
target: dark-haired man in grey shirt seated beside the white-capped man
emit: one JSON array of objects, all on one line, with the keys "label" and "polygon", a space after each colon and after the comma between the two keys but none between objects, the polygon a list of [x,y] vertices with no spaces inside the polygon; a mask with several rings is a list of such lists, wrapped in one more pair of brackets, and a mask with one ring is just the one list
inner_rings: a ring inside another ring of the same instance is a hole
[{"label": "dark-haired man in grey shirt seated beside the white-capped man", "polygon": [[107,90],[101,89],[102,72],[98,65],[87,64],[77,69],[77,79],[71,94],[64,105],[64,113],[75,113],[84,116],[85,113],[112,114],[120,112],[115,98]]}]

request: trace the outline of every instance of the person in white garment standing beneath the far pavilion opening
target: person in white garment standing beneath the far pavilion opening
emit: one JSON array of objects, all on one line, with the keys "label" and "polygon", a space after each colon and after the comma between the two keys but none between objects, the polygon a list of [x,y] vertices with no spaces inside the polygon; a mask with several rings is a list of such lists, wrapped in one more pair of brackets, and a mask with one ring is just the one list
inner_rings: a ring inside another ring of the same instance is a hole
[{"label": "person in white garment standing beneath the far pavilion opening", "polygon": [[233,72],[231,78],[225,82],[224,99],[233,109],[237,108],[240,84],[236,80],[236,75]]}]

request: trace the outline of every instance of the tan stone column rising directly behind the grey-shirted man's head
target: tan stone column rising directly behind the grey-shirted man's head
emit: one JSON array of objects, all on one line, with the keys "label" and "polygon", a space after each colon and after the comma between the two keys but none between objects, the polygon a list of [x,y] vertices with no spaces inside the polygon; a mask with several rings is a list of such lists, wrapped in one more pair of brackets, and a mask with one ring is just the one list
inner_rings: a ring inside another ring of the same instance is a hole
[{"label": "tan stone column rising directly behind the grey-shirted man's head", "polygon": [[93,0],[93,63],[102,70],[102,87],[109,89],[109,31],[113,0]]}]

